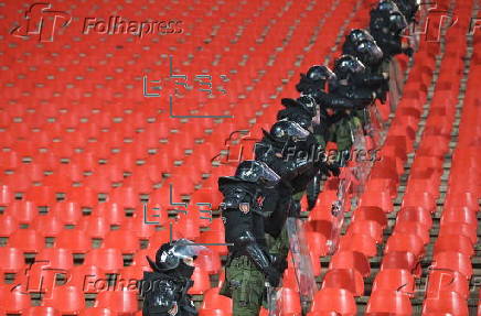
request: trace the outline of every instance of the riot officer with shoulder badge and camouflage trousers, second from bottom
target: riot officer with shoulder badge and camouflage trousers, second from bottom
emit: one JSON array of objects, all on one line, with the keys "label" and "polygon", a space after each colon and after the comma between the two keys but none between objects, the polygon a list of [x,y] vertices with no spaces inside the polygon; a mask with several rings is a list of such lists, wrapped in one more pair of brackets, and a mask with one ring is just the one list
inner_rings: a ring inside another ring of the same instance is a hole
[{"label": "riot officer with shoulder badge and camouflage trousers, second from bottom", "polygon": [[218,178],[224,195],[222,216],[225,241],[231,243],[225,282],[221,294],[233,299],[233,315],[258,315],[266,282],[277,287],[284,264],[268,253],[265,231],[265,188],[274,188],[280,177],[265,163],[243,161],[234,176]]}]

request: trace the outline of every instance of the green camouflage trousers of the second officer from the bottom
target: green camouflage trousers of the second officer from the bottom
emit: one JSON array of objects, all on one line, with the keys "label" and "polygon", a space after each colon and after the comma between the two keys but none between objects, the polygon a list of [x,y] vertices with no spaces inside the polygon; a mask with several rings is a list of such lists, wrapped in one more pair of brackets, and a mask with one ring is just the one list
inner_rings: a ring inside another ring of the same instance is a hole
[{"label": "green camouflage trousers of the second officer from the bottom", "polygon": [[247,255],[232,259],[225,266],[220,292],[233,301],[233,316],[257,316],[265,293],[265,276]]}]

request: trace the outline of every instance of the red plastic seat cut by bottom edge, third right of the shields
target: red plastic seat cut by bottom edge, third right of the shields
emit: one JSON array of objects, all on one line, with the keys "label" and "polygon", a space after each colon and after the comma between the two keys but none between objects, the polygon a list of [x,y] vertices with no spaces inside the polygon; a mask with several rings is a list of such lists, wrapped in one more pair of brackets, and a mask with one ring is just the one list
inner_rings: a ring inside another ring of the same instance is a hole
[{"label": "red plastic seat cut by bottom edge, third right of the shields", "polygon": [[453,316],[469,315],[468,302],[456,292],[442,291],[438,296],[426,298],[423,304],[423,315],[432,313],[440,315],[449,313]]}]

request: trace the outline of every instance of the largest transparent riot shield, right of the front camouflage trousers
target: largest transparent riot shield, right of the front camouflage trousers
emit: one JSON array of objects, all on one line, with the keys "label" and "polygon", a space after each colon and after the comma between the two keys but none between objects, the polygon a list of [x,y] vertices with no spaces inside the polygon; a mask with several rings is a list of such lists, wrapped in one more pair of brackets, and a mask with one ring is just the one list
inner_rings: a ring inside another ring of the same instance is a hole
[{"label": "largest transparent riot shield, right of the front camouflage trousers", "polygon": [[298,218],[289,217],[286,221],[286,228],[289,235],[289,249],[292,254],[301,305],[308,307],[312,303],[318,286],[316,284],[303,222]]}]

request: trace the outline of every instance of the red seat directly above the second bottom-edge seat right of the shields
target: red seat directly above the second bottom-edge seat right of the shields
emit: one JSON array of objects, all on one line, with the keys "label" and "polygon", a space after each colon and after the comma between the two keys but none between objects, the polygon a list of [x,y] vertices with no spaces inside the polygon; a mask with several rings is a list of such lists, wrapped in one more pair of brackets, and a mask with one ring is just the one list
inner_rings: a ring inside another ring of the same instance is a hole
[{"label": "red seat directly above the second bottom-edge seat right of the shields", "polygon": [[373,283],[372,292],[398,291],[407,295],[414,295],[415,281],[409,271],[404,269],[383,269]]}]

